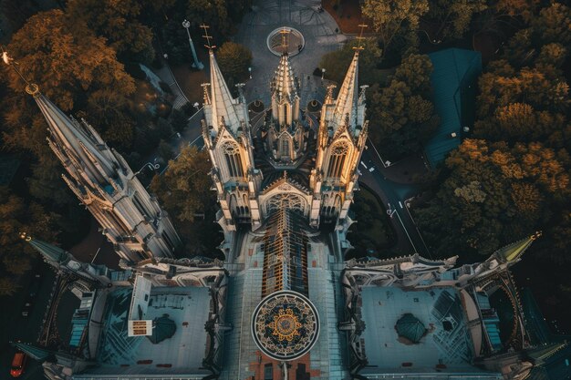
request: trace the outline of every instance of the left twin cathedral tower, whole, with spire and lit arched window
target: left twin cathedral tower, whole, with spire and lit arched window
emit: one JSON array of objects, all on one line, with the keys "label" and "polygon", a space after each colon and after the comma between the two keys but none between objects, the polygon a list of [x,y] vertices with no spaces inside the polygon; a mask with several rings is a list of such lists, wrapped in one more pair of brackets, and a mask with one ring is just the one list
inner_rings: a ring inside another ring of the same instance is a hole
[{"label": "left twin cathedral tower, whole, with spire and lit arched window", "polygon": [[202,85],[202,137],[212,160],[211,176],[222,209],[218,222],[225,233],[235,231],[237,222],[256,228],[260,225],[256,195],[262,173],[254,169],[248,109],[242,95],[232,97],[212,48],[209,56],[210,83]]}]

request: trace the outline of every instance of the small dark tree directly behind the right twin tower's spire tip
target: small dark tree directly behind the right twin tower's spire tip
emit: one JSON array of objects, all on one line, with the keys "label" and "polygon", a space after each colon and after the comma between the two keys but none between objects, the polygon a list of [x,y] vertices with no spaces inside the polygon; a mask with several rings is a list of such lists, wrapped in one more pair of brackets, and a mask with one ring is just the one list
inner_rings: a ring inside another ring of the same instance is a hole
[{"label": "small dark tree directly behind the right twin tower's spire tip", "polygon": [[355,55],[355,47],[364,47],[358,56],[358,81],[359,84],[374,84],[381,80],[380,71],[377,68],[381,51],[376,38],[365,38],[360,43],[358,40],[350,41],[339,50],[326,53],[321,57],[319,67],[325,68],[325,77],[339,84],[347,74],[351,60]]}]

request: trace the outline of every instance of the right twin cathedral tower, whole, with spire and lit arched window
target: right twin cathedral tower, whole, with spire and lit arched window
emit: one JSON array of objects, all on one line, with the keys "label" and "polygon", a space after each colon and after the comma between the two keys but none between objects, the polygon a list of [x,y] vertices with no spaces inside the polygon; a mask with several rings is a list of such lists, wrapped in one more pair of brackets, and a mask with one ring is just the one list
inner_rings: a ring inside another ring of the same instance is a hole
[{"label": "right twin cathedral tower, whole, with spire and lit arched window", "polygon": [[345,221],[368,134],[366,87],[361,87],[360,94],[358,90],[358,53],[353,56],[337,99],[333,98],[333,87],[329,87],[321,109],[316,167],[310,178],[312,225],[335,221],[337,227],[348,228]]}]

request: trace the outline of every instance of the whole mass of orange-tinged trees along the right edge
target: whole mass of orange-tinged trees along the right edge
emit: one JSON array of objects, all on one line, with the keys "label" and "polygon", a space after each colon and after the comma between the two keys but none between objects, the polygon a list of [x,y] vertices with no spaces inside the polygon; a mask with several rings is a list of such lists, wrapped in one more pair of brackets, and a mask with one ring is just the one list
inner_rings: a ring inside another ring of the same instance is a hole
[{"label": "whole mass of orange-tinged trees along the right edge", "polygon": [[[525,12],[536,12],[535,5]],[[571,15],[554,3],[524,18],[530,24],[480,77],[476,139],[452,151],[433,198],[416,209],[420,230],[441,256],[489,254],[543,230],[535,251],[571,262],[571,120],[562,70],[568,36],[561,30]]]}]

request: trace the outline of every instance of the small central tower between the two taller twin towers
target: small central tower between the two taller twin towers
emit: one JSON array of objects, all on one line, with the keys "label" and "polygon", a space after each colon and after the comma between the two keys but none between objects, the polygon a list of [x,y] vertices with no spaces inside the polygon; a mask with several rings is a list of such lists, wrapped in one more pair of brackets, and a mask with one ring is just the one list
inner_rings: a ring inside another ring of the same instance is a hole
[{"label": "small central tower between the two taller twin towers", "polygon": [[265,149],[275,167],[296,163],[305,147],[306,131],[299,119],[299,82],[284,53],[271,82],[272,117],[265,132]]}]

